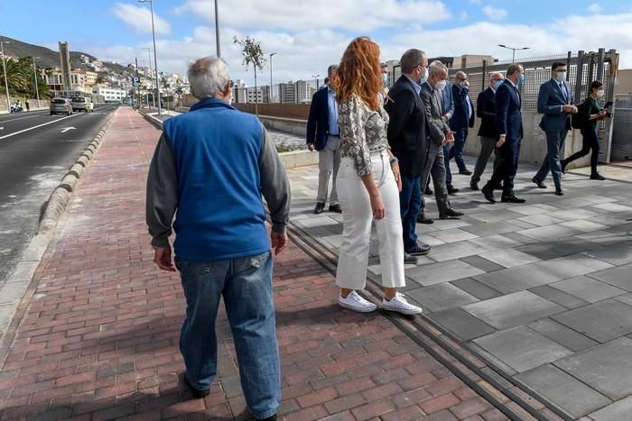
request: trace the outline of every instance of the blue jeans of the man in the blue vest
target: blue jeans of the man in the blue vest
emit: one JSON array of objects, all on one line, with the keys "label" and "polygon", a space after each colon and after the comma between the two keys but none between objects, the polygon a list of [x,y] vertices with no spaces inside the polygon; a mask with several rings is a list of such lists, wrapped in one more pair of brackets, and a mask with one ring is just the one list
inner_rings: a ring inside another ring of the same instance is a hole
[{"label": "blue jeans of the man in the blue vest", "polygon": [[180,352],[195,389],[210,389],[217,375],[215,324],[224,297],[233,333],[241,389],[256,418],[273,416],[281,403],[281,368],[276,342],[271,252],[227,261],[184,261],[176,257],[187,315]]}]

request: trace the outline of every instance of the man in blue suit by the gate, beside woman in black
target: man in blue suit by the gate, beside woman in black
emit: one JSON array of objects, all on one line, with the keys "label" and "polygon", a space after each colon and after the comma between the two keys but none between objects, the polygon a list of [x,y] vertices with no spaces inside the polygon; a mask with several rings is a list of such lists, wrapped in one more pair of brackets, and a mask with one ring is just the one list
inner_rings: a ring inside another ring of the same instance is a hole
[{"label": "man in blue suit by the gate, beside woman in black", "polygon": [[560,151],[563,151],[566,134],[571,130],[571,114],[577,113],[573,104],[571,88],[566,83],[566,63],[555,62],[551,67],[551,80],[540,86],[537,96],[537,111],[544,114],[540,128],[546,133],[547,153],[532,181],[538,188],[546,188],[544,178],[550,170],[557,196],[564,194]]}]

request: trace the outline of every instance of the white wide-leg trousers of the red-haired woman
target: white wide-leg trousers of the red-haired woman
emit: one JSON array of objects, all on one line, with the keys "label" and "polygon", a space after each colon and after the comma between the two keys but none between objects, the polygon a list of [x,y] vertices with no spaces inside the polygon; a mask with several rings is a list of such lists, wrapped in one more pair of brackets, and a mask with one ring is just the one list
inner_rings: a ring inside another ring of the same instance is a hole
[{"label": "white wide-leg trousers of the red-haired woman", "polygon": [[[371,154],[373,177],[386,209],[383,219],[376,221],[382,286],[401,288],[404,280],[404,243],[399,192],[386,151]],[[371,236],[373,209],[367,188],[353,167],[353,160],[342,158],[338,171],[338,197],[342,206],[342,243],[338,256],[336,285],[362,289],[367,283],[368,245]]]}]

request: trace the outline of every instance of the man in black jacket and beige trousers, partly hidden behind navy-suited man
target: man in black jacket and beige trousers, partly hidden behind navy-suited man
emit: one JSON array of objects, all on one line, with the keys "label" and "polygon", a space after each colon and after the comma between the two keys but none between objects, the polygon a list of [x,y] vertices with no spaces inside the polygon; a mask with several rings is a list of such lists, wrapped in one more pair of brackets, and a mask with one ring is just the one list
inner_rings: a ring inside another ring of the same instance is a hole
[{"label": "man in black jacket and beige trousers, partly hidden behind navy-suited man", "polygon": [[480,152],[479,158],[476,160],[474,174],[469,180],[469,188],[472,190],[479,189],[480,176],[483,175],[485,167],[488,165],[491,152],[495,151],[496,159],[494,160],[494,169],[500,164],[500,154],[496,149],[498,142],[498,132],[494,120],[496,119],[496,90],[505,81],[502,73],[492,73],[489,78],[489,87],[479,94],[476,100],[476,114],[480,118],[479,136],[480,136]]}]

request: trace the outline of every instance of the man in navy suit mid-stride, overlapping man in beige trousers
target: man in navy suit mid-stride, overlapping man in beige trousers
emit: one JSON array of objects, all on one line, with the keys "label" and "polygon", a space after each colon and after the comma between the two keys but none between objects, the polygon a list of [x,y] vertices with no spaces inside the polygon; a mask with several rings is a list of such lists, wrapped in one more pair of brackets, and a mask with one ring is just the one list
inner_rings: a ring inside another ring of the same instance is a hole
[{"label": "man in navy suit mid-stride, overlapping man in beige trousers", "polygon": [[500,151],[502,162],[494,169],[491,179],[481,188],[483,195],[489,202],[495,203],[494,188],[503,183],[501,200],[509,203],[525,203],[525,199],[514,194],[514,178],[518,169],[520,156],[520,142],[523,137],[522,100],[518,85],[525,82],[525,69],[520,64],[511,64],[507,68],[507,78],[496,91],[496,130],[498,142],[496,147]]}]

